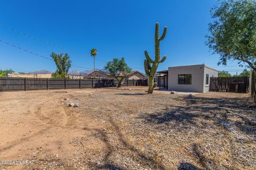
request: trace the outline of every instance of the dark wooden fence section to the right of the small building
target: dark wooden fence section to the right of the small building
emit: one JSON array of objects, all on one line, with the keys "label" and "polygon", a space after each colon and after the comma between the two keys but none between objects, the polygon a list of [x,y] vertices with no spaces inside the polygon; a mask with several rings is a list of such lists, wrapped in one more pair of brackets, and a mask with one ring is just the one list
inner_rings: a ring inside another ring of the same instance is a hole
[{"label": "dark wooden fence section to the right of the small building", "polygon": [[210,91],[247,93],[249,83],[249,77],[212,77]]}]

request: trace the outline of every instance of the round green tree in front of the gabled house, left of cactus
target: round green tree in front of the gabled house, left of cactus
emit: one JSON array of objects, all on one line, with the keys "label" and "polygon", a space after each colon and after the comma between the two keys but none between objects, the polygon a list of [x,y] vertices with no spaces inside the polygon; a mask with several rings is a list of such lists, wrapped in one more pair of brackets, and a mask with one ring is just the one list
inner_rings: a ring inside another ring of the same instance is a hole
[{"label": "round green tree in front of the gabled house, left of cactus", "polygon": [[110,75],[116,78],[118,81],[117,87],[121,87],[126,75],[132,71],[132,69],[125,63],[124,57],[121,59],[113,58],[113,61],[108,62],[104,69],[109,71]]}]

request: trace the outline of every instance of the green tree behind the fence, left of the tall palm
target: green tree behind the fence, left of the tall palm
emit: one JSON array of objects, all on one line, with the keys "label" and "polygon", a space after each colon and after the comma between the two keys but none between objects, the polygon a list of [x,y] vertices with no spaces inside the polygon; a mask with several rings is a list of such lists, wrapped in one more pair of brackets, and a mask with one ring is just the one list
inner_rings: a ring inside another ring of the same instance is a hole
[{"label": "green tree behind the fence, left of the tall palm", "polygon": [[56,54],[52,53],[51,57],[57,66],[57,71],[52,73],[52,77],[55,79],[63,79],[68,74],[68,70],[71,67],[71,61],[69,60],[70,56],[66,53]]}]

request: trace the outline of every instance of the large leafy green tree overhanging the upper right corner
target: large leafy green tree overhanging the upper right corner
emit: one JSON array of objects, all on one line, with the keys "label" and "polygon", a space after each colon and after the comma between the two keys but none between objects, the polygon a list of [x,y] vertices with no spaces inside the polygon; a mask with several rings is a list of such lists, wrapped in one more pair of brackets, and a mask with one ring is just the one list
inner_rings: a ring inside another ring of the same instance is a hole
[{"label": "large leafy green tree overhanging the upper right corner", "polygon": [[222,1],[211,9],[211,16],[206,45],[220,54],[218,64],[236,60],[256,71],[256,1]]}]

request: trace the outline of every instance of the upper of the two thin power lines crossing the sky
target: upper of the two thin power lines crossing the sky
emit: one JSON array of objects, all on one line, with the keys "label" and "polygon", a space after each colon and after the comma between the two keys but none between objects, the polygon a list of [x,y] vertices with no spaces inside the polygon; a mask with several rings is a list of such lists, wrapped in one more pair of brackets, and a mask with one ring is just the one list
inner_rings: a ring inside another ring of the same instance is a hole
[{"label": "upper of the two thin power lines crossing the sky", "polygon": [[[45,40],[43,40],[43,39],[41,39],[41,38],[37,38],[37,37],[31,36],[31,35],[29,35],[28,33],[25,33],[25,32],[22,32],[22,31],[19,31],[19,30],[16,30],[16,29],[13,29],[13,28],[8,27],[8,26],[6,26],[6,25],[0,24],[0,27],[3,27],[3,28],[8,29],[8,30],[11,30],[11,31],[13,31],[13,32],[17,32],[17,33],[19,33],[20,35],[29,37],[29,38],[31,38],[31,39],[35,39],[35,40],[37,40],[37,41],[41,41],[42,43],[45,43],[45,44],[47,44],[47,45],[51,45],[51,46],[60,48],[60,49],[62,49],[62,50],[66,50],[66,51],[68,51],[68,52],[75,53],[75,54],[77,54],[77,55],[81,55],[81,56],[84,56],[84,57],[89,57],[89,56],[86,56],[86,55],[84,55],[84,54],[82,54],[82,53],[76,52],[76,51],[74,51],[74,50],[70,50],[70,49],[61,47],[61,46],[56,45],[56,44],[54,44],[54,43],[50,43],[49,41],[45,41]],[[5,43],[5,42],[3,42],[3,43]],[[24,50],[24,49],[22,49],[22,50]],[[95,58],[95,60],[98,60],[98,61],[101,61],[101,62],[107,62],[107,61],[105,61],[105,60],[101,60],[101,59],[98,59],[98,58]],[[140,68],[140,67],[132,67],[132,68],[144,70],[143,68]]]}]

